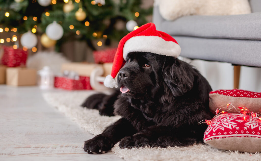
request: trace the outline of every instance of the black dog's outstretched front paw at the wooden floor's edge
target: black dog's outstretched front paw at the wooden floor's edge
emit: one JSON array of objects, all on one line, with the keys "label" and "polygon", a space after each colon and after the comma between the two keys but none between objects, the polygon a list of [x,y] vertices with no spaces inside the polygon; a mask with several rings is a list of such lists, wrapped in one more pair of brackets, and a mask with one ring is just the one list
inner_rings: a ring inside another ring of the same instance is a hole
[{"label": "black dog's outstretched front paw at the wooden floor's edge", "polygon": [[105,136],[97,135],[84,142],[84,151],[89,154],[102,154],[108,152],[114,144]]}]

